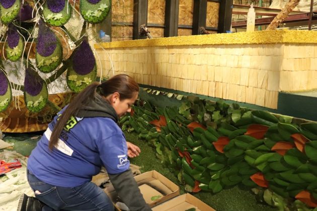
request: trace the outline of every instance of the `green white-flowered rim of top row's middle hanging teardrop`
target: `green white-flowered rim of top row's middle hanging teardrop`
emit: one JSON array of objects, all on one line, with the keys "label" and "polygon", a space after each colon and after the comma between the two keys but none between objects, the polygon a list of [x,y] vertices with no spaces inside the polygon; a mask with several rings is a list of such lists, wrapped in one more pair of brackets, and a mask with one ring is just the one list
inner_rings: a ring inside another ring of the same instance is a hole
[{"label": "green white-flowered rim of top row's middle hanging teardrop", "polygon": [[[72,8],[70,7],[68,1],[65,1],[65,7],[62,11],[59,13],[53,13],[51,12],[47,4],[45,3],[43,6],[43,16],[46,22],[51,26],[62,26],[67,23],[67,21],[71,17]],[[67,13],[67,3],[68,3],[68,13]]]}]

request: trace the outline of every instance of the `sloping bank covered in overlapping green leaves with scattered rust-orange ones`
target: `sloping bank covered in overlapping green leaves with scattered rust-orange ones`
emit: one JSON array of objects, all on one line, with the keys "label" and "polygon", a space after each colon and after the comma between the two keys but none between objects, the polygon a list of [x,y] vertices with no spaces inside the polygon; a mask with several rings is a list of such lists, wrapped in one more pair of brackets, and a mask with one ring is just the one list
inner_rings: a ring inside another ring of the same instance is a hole
[{"label": "sloping bank covered in overlapping green leaves with scattered rust-orange ones", "polygon": [[[156,156],[187,191],[218,193],[241,184],[253,188],[260,201],[283,209],[309,210],[307,201],[295,198],[304,189],[317,197],[317,142],[300,134],[313,134],[314,126],[307,130],[289,122],[292,118],[196,97],[188,97],[180,107],[154,110],[141,100],[133,110],[133,116],[120,120],[122,129],[135,131],[154,146]],[[159,123],[162,115],[166,126]],[[190,130],[188,121],[201,127]]]}]

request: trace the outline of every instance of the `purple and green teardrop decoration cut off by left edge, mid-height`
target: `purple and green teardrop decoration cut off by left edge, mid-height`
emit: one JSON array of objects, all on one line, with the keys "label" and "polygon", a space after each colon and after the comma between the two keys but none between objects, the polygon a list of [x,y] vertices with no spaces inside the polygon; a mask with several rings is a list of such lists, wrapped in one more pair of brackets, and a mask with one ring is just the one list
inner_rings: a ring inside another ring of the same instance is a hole
[{"label": "purple and green teardrop decoration cut off by left edge, mid-height", "polygon": [[12,90],[9,80],[3,70],[0,70],[0,112],[8,109],[12,100]]}]

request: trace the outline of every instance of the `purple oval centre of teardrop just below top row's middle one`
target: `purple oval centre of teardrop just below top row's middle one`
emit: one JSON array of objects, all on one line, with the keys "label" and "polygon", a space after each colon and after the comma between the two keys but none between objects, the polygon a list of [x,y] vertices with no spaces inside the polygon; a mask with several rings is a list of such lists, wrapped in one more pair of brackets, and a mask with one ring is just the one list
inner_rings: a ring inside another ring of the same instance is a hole
[{"label": "purple oval centre of teardrop just below top row's middle one", "polygon": [[42,21],[39,24],[36,50],[41,56],[50,56],[56,48],[55,34]]}]

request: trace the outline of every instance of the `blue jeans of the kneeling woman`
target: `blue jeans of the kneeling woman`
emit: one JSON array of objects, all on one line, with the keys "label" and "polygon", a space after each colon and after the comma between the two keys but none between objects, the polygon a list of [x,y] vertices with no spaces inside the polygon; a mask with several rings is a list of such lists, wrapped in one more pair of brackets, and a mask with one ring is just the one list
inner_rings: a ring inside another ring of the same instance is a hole
[{"label": "blue jeans of the kneeling woman", "polygon": [[42,210],[114,210],[108,195],[96,184],[87,182],[77,187],[60,187],[39,180],[29,170],[28,181],[35,197],[45,203]]}]

